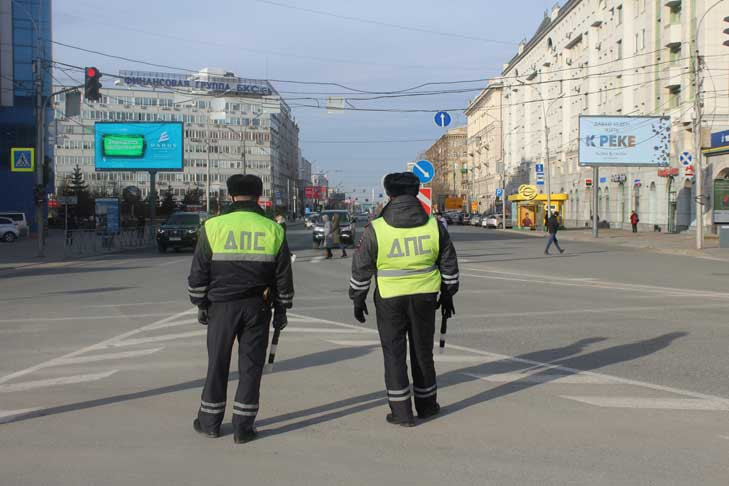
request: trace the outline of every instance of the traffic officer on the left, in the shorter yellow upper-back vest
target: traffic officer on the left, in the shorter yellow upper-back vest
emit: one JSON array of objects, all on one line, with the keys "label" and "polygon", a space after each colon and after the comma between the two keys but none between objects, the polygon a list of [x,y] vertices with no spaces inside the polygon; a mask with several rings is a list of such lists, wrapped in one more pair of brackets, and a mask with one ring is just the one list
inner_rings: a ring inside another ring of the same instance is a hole
[{"label": "traffic officer on the left, in the shorter yellow upper-back vest", "polygon": [[205,222],[188,277],[190,300],[207,324],[208,372],[195,430],[220,436],[225,414],[228,372],[238,339],[240,379],[233,403],[236,444],[256,437],[261,374],[268,346],[271,307],[273,326],[286,326],[294,285],[291,254],[283,228],[258,206],[263,184],[254,175],[228,179],[230,210]]}]

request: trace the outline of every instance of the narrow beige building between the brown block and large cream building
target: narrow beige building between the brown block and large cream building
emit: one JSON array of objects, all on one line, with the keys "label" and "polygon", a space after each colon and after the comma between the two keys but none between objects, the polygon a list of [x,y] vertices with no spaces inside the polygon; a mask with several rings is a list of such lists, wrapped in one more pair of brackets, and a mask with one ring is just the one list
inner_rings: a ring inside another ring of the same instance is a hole
[{"label": "narrow beige building between the brown block and large cream building", "polygon": [[478,212],[497,209],[496,189],[504,183],[502,101],[503,85],[494,82],[466,109],[470,195],[477,202]]}]

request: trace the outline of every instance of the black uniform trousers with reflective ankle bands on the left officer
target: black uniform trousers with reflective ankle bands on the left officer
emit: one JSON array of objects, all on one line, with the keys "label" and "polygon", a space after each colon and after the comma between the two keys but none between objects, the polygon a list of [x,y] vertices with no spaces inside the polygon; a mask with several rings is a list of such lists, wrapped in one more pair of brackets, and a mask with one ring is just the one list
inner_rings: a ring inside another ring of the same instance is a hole
[{"label": "black uniform trousers with reflective ankle bands on the left officer", "polygon": [[198,419],[205,430],[220,427],[225,415],[228,373],[238,339],[238,390],[233,426],[250,428],[258,414],[261,375],[266,361],[271,309],[260,296],[213,302],[208,309],[208,374]]}]

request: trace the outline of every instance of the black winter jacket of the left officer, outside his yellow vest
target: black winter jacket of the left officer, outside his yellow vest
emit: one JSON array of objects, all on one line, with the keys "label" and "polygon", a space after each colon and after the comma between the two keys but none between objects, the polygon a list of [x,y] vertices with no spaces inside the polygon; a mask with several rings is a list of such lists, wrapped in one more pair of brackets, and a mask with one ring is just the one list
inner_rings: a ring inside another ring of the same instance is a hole
[{"label": "black winter jacket of the left officer, outside his yellow vest", "polygon": [[[228,212],[233,211],[264,215],[253,201],[234,202]],[[292,306],[294,280],[291,253],[285,239],[274,262],[213,261],[212,257],[213,252],[203,227],[187,278],[190,301],[194,305],[208,307],[211,302],[230,302],[262,295],[268,288],[274,305],[286,308]]]}]

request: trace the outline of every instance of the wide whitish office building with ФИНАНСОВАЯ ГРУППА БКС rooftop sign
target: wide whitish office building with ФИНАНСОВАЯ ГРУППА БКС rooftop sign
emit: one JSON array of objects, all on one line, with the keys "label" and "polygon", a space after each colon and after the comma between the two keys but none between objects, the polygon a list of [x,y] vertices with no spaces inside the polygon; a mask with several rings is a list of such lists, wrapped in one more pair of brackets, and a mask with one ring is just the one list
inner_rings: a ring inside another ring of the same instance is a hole
[{"label": "wide whitish office building with \u0424\u0418\u041d\u0410\u041d\u0421\u041e\u0412\u0410\u042f \u0413\u0420\u0423\u041f\u041f\u0410 \u0411\u041a\u0421 rooftop sign", "polygon": [[[103,78],[105,84],[111,79]],[[280,211],[293,210],[299,128],[268,81],[238,78],[219,69],[203,69],[193,76],[122,71],[114,86],[105,86],[101,94],[98,103],[84,101],[81,116],[73,118],[64,116],[63,95],[56,99],[57,187],[79,166],[97,193],[118,195],[133,185],[146,197],[146,172],[95,171],[94,123],[177,121],[184,123],[184,170],[159,172],[159,192],[171,190],[178,200],[193,189],[204,194],[209,164],[212,197],[227,195],[225,182],[231,175],[249,173],[263,180],[262,201],[271,201]]]}]

